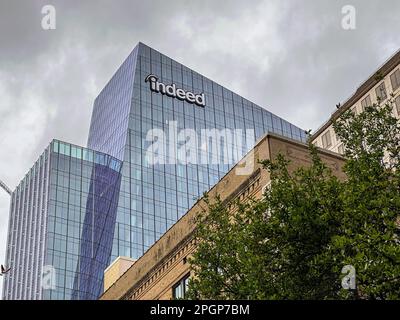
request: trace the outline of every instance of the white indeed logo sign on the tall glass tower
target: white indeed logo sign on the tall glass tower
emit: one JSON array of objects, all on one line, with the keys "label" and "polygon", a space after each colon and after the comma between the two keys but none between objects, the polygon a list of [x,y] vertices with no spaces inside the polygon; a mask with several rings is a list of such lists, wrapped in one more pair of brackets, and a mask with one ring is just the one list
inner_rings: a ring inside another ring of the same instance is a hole
[{"label": "white indeed logo sign on the tall glass tower", "polygon": [[206,106],[204,93],[195,95],[192,92],[177,89],[175,83],[165,85],[162,82],[158,82],[158,77],[154,74],[149,74],[144,81],[150,83],[150,90],[153,92],[166,94],[169,97],[178,98],[179,100],[187,101],[189,103],[195,103],[200,107]]}]

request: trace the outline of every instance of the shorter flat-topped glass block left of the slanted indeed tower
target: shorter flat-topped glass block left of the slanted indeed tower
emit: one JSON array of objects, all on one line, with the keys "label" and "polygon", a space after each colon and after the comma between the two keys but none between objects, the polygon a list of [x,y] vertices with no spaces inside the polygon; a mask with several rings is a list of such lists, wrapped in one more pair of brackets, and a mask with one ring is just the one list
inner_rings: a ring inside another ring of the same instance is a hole
[{"label": "shorter flat-topped glass block left of the slanted indeed tower", "polygon": [[12,194],[3,299],[97,298],[120,170],[109,155],[52,141]]}]

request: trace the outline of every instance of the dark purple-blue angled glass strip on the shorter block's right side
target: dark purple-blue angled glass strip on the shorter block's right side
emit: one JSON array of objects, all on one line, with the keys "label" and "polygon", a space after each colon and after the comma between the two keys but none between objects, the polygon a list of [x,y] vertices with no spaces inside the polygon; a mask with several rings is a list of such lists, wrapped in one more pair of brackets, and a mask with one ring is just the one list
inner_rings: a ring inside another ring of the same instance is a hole
[{"label": "dark purple-blue angled glass strip on the shorter block's right side", "polygon": [[72,299],[97,299],[103,289],[103,273],[110,264],[121,174],[110,169],[107,159],[96,161],[81,233],[79,264]]}]

